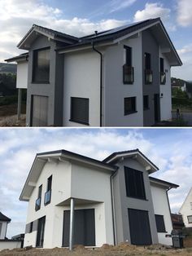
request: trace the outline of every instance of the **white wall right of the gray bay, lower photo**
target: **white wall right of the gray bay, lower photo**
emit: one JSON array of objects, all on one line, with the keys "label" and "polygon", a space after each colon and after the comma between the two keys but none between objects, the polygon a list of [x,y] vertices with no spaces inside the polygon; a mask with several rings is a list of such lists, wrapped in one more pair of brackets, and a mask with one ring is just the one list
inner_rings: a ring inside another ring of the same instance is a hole
[{"label": "white wall right of the gray bay, lower photo", "polygon": [[164,215],[166,233],[158,233],[159,244],[172,245],[172,238],[165,237],[166,234],[171,234],[172,232],[172,219],[169,211],[166,189],[151,183],[151,194],[155,214]]}]

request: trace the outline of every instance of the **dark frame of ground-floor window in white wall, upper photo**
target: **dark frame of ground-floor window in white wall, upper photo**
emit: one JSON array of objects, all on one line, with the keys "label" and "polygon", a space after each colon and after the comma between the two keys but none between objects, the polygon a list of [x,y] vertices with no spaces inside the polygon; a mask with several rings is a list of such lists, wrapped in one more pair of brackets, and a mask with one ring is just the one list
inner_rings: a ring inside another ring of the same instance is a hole
[{"label": "dark frame of ground-floor window in white wall, upper photo", "polygon": [[[85,110],[87,113],[85,113],[85,120],[84,121],[81,121],[80,119],[76,119],[74,117],[72,117],[72,114],[73,112],[75,111],[73,108],[73,103],[72,101],[75,100],[75,99],[85,99]],[[71,108],[70,108],[70,119],[69,121],[73,121],[73,122],[76,122],[76,123],[79,123],[81,125],[85,125],[85,126],[89,126],[89,98],[82,98],[82,97],[71,97]]]}]

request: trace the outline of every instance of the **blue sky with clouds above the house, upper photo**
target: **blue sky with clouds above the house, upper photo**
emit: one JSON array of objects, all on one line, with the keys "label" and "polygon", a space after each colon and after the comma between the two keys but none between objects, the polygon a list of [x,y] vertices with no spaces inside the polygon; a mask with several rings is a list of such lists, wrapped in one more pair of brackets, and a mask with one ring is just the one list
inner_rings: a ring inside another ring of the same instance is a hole
[{"label": "blue sky with clouds above the house, upper photo", "polygon": [[192,80],[191,13],[191,0],[1,0],[0,61],[21,52],[16,45],[33,24],[80,36],[161,17],[184,64],[172,76]]}]

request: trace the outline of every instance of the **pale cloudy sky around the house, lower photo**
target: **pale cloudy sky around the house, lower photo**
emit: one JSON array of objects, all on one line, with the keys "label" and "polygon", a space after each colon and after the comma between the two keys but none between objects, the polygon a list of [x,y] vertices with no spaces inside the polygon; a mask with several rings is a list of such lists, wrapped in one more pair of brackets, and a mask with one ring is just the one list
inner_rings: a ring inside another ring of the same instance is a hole
[{"label": "pale cloudy sky around the house, lower photo", "polygon": [[37,152],[67,149],[103,160],[112,152],[139,148],[159,167],[156,178],[177,183],[169,192],[177,213],[192,186],[192,130],[190,129],[1,129],[0,211],[12,219],[11,237],[24,232],[27,202],[19,201]]}]

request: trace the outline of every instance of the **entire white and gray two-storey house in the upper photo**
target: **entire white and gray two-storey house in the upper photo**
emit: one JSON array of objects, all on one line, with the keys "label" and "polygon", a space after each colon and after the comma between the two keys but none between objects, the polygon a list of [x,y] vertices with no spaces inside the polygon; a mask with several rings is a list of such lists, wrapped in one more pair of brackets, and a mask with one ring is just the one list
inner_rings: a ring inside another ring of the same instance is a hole
[{"label": "entire white and gray two-storey house in the upper photo", "polygon": [[[18,44],[27,126],[152,126],[171,115],[170,68],[180,66],[162,21],[83,38],[36,24]],[[20,100],[19,100],[20,102]]]}]

